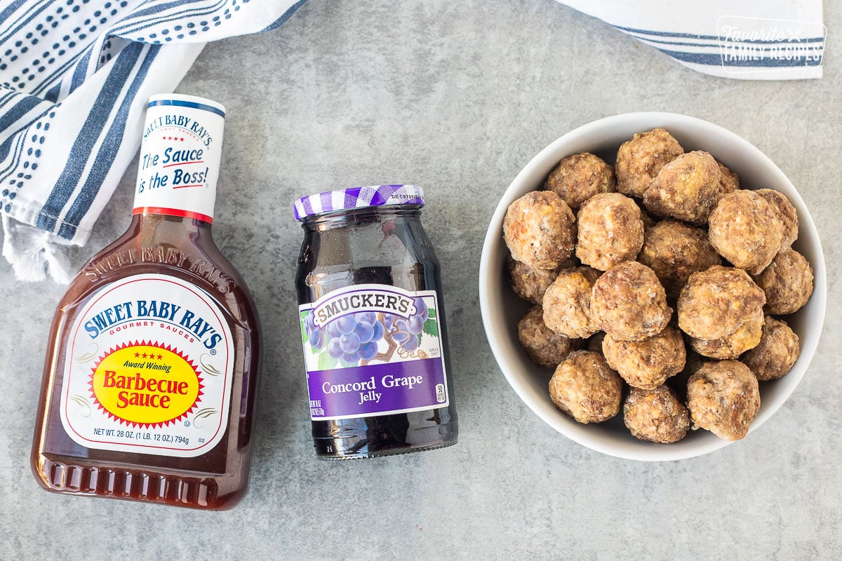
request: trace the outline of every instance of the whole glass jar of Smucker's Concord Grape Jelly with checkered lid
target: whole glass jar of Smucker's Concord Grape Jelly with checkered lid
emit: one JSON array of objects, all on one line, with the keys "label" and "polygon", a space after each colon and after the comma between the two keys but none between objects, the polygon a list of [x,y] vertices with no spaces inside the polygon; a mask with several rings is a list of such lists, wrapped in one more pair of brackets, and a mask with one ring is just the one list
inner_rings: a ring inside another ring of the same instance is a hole
[{"label": "whole glass jar of Smucker's Concord Grape Jelly with checkered lid", "polygon": [[320,458],[456,444],[439,262],[421,188],[380,185],[296,201],[301,340]]}]

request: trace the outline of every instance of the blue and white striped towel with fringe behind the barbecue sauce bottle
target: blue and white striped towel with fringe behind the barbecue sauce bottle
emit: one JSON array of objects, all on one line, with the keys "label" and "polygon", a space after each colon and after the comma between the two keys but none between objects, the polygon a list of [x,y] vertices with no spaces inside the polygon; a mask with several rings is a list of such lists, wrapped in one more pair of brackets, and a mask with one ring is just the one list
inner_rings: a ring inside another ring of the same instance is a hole
[{"label": "blue and white striped towel with fringe behind the barbecue sauce bottle", "polygon": [[3,256],[61,283],[140,146],[154,93],[206,42],[274,29],[305,0],[0,0]]}]

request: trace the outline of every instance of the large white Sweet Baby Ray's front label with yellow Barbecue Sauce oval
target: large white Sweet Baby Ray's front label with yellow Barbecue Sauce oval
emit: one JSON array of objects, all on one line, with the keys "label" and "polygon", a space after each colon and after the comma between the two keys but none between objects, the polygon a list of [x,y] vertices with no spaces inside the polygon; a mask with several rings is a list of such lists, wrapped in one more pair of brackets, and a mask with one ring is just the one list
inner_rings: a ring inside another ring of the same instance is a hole
[{"label": "large white Sweet Baby Ray's front label with yellow Barbecue Sauce oval", "polygon": [[189,458],[225,432],[232,333],[192,284],[155,274],[109,284],[84,305],[65,352],[61,424],[78,444]]}]

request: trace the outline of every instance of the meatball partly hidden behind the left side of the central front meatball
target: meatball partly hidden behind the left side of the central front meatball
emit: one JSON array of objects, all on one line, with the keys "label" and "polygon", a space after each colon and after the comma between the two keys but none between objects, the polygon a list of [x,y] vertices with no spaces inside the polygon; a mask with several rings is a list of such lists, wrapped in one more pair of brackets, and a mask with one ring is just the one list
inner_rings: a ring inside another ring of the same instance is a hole
[{"label": "meatball partly hidden behind the left side of the central front meatball", "polygon": [[544,322],[563,336],[586,338],[599,331],[590,316],[590,293],[600,272],[574,267],[558,273],[544,294]]}]

